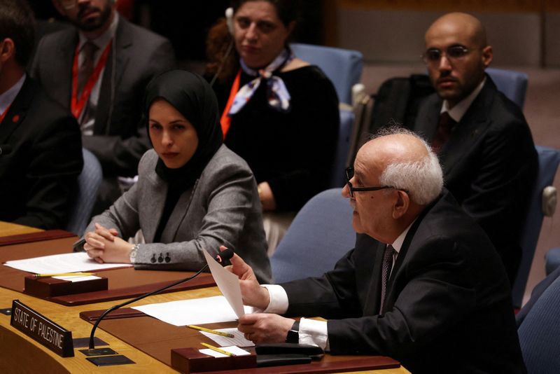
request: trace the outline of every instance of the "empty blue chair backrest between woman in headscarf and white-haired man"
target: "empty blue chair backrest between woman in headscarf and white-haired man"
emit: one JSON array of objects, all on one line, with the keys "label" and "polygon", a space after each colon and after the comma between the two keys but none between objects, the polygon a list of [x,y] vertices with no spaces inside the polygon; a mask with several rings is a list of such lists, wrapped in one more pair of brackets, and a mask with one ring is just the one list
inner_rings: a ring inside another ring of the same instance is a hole
[{"label": "empty blue chair backrest between woman in headscarf and white-haired man", "polygon": [[318,193],[297,213],[270,259],[274,282],[322,275],[353,248],[352,208],[341,191]]}]

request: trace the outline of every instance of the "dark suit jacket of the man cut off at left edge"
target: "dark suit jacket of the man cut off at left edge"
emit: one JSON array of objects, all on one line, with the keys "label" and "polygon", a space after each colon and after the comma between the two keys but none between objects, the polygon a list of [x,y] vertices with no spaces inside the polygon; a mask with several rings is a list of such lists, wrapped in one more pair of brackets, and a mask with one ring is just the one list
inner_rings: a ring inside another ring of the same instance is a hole
[{"label": "dark suit jacket of the man cut off at left edge", "polygon": [[26,78],[0,123],[0,221],[65,228],[82,170],[80,127],[70,112]]}]

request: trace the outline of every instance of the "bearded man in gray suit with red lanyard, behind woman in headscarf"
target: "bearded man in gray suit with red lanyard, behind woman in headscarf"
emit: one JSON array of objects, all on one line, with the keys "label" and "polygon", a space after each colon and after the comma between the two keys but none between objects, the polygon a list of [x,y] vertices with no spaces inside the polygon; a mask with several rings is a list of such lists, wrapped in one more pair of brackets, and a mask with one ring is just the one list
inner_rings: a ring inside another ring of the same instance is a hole
[{"label": "bearded man in gray suit with red lanyard, behind woman in headscarf", "polygon": [[130,187],[149,148],[141,123],[144,88],[175,65],[167,39],[119,16],[115,0],[53,0],[76,26],[38,44],[31,74],[78,120],[84,148],[102,164],[104,181],[94,213]]}]

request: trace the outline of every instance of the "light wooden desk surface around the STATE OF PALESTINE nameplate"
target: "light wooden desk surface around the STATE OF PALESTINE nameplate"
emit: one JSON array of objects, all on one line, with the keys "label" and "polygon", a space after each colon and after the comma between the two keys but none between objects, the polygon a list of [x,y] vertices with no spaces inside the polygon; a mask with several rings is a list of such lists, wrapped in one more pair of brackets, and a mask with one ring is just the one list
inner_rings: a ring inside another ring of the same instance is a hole
[{"label": "light wooden desk surface around the STATE OF PALESTINE nameplate", "polygon": [[[135,305],[164,303],[188,298],[203,298],[218,294],[219,291],[216,287],[179,291],[151,296],[139,301]],[[52,319],[57,324],[71,330],[73,338],[89,337],[92,328],[91,324],[80,319],[80,312],[106,309],[115,305],[115,302],[109,301],[66,307],[34,298],[33,296],[27,296],[23,293],[0,288],[0,308],[10,307],[12,300],[16,298],[45,315],[45,317]],[[45,347],[38,345],[35,340],[28,338],[27,335],[20,333],[20,331],[10,326],[10,317],[0,314],[0,373],[34,373],[38,371],[42,373],[138,373],[142,371],[150,373],[176,373],[175,370],[164,363],[113,337],[113,335],[106,333],[100,328],[97,329],[95,335],[109,343],[111,348],[119,354],[124,354],[129,359],[132,359],[136,364],[118,367],[97,367],[87,361],[85,356],[78,352],[77,349],[74,349],[74,357],[62,358]],[[400,367],[361,373],[403,374],[409,373],[409,371]]]}]

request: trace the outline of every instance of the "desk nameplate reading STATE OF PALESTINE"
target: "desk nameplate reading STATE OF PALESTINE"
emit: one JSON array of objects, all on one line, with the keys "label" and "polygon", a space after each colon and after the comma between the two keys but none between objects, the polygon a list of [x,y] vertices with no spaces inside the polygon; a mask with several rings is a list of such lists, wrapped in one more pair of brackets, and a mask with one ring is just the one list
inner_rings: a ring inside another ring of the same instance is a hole
[{"label": "desk nameplate reading STATE OF PALESTINE", "polygon": [[10,325],[62,357],[73,357],[72,332],[20,302],[12,301]]}]

